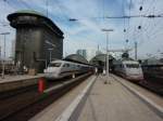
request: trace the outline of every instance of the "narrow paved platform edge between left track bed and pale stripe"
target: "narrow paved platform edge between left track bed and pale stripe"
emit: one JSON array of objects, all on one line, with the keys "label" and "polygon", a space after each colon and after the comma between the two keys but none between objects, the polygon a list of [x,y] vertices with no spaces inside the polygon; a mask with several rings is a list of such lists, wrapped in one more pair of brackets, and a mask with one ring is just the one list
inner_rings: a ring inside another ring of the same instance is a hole
[{"label": "narrow paved platform edge between left track bed and pale stripe", "polygon": [[[66,93],[64,96],[55,100],[53,104],[45,108],[42,111],[40,111],[38,115],[36,115],[34,118],[32,118],[29,121],[54,121],[58,119],[58,117],[64,112],[64,110],[74,102],[74,99],[77,97],[77,95],[82,94],[82,91],[85,89],[85,86],[88,85],[88,83],[91,80],[95,80],[96,76],[91,76],[88,79],[86,79],[84,82],[82,82],[78,86],[71,90],[68,93]],[[71,111],[70,111],[71,112]]]}]

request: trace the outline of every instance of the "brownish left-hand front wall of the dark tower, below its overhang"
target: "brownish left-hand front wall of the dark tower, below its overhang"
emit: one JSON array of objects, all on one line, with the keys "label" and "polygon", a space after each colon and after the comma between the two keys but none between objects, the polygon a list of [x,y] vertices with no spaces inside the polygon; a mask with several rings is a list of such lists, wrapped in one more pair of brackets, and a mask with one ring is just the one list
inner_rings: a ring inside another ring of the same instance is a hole
[{"label": "brownish left-hand front wall of the dark tower, below its overhang", "polygon": [[38,27],[20,27],[16,29],[15,63],[35,68],[34,55],[39,55],[41,31]]}]

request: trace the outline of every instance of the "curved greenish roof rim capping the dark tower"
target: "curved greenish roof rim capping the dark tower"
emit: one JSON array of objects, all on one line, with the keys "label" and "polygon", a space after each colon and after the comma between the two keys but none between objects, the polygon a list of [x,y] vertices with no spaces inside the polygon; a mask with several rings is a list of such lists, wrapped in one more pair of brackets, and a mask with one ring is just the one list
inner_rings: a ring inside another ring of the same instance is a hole
[{"label": "curved greenish roof rim capping the dark tower", "polygon": [[24,16],[24,15],[30,15],[30,16],[38,16],[45,18],[49,25],[51,25],[52,28],[54,28],[61,36],[63,35],[63,31],[46,15],[43,15],[40,12],[34,11],[34,10],[20,10],[15,11],[14,13],[11,13],[8,15],[8,19],[11,22],[12,19],[16,18],[17,16]]}]

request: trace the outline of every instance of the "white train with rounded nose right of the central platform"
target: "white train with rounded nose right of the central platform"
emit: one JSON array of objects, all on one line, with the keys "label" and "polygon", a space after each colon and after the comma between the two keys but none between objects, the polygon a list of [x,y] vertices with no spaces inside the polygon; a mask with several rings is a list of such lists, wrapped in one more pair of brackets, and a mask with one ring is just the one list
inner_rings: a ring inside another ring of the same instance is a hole
[{"label": "white train with rounded nose right of the central platform", "polygon": [[114,71],[121,77],[130,81],[139,82],[143,80],[143,72],[140,64],[131,59],[113,60]]}]

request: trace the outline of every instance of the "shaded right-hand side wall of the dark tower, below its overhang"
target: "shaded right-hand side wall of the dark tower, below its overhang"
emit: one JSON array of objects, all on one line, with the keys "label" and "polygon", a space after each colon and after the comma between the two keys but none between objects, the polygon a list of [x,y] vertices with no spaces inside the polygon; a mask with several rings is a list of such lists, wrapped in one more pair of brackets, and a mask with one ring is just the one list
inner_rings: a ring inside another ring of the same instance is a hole
[{"label": "shaded right-hand side wall of the dark tower, below its overhang", "polygon": [[[51,42],[55,46],[52,46],[46,41]],[[46,59],[47,64],[50,63],[50,51],[48,49],[53,49],[51,51],[51,58],[53,59],[62,59],[63,56],[63,38],[57,36],[54,31],[48,28],[41,28],[41,49],[39,58]],[[40,62],[43,63],[43,62]],[[39,65],[39,68],[45,68],[45,65]]]}]

